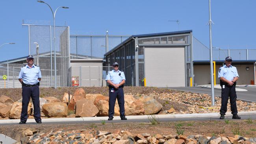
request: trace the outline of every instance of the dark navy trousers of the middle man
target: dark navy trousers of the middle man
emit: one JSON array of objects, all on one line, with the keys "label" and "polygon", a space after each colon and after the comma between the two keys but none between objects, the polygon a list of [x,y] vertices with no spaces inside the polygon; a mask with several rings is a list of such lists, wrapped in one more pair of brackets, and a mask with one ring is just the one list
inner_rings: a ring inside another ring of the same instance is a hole
[{"label": "dark navy trousers of the middle man", "polygon": [[111,92],[109,89],[109,109],[108,109],[108,117],[112,117],[115,114],[115,101],[117,99],[119,110],[120,110],[120,117],[124,117],[124,90],[123,88],[114,89],[114,92]]}]

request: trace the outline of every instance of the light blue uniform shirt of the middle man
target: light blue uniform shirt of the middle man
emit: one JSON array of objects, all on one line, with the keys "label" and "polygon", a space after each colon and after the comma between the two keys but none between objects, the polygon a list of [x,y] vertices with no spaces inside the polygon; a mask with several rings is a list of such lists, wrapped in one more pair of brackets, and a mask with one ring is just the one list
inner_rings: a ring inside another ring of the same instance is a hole
[{"label": "light blue uniform shirt of the middle man", "polygon": [[[121,74],[119,76],[119,74]],[[118,70],[117,72],[115,70],[111,70],[107,73],[106,81],[110,80],[114,84],[121,83],[122,80],[126,80],[124,76],[124,72]]]}]

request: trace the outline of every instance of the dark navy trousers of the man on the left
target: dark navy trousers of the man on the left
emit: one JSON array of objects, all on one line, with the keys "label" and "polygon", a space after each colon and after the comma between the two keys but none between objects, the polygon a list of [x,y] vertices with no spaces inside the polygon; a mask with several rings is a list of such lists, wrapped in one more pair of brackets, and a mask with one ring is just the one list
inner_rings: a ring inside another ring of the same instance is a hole
[{"label": "dark navy trousers of the man on the left", "polygon": [[26,122],[28,119],[28,103],[32,98],[34,105],[34,118],[35,121],[41,121],[41,111],[39,102],[39,85],[33,87],[22,86],[22,110],[20,114],[20,121]]}]

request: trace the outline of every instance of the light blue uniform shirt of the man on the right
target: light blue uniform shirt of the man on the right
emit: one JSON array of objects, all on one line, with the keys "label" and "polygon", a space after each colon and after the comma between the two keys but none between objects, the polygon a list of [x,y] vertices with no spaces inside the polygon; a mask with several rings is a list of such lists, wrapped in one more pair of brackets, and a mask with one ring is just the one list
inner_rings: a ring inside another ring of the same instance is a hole
[{"label": "light blue uniform shirt of the man on the right", "polygon": [[219,78],[223,77],[229,81],[232,81],[235,77],[239,77],[236,67],[230,65],[229,67],[224,65],[221,68],[219,68]]}]

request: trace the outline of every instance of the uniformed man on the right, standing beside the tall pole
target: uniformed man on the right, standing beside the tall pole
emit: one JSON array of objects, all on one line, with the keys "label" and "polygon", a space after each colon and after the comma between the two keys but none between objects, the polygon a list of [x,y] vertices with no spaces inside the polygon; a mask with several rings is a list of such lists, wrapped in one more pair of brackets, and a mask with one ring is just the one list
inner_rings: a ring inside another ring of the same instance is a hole
[{"label": "uniformed man on the right, standing beside the tall pole", "polygon": [[232,119],[240,119],[241,117],[237,115],[236,107],[236,81],[239,78],[236,67],[231,65],[232,58],[225,58],[225,65],[219,68],[219,78],[221,81],[221,117],[219,119],[225,118],[225,113],[227,111],[228,97],[230,98],[230,106],[232,111]]}]

